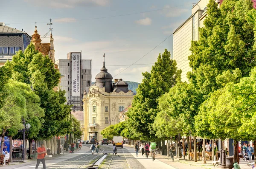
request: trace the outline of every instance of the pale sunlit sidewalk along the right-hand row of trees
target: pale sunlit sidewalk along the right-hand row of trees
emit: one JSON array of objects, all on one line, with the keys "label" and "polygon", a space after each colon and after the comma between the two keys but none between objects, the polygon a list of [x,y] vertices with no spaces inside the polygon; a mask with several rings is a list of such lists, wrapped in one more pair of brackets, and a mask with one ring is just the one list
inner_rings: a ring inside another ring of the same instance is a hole
[{"label": "pale sunlit sidewalk along the right-hand row of trees", "polygon": [[[124,146],[133,147],[128,144],[124,144]],[[141,154],[139,157],[135,156],[135,153],[132,153],[132,155],[141,162]],[[145,158],[145,155],[144,155]],[[144,159],[143,158],[143,159]],[[194,162],[194,161],[185,161],[185,160],[178,160],[176,157],[174,157],[174,161],[172,161],[171,157],[168,157],[167,155],[160,155],[157,154],[155,156],[156,161],[160,161],[163,163],[168,164],[169,166],[172,166],[172,168],[169,169],[217,169],[218,167],[212,166],[212,161],[207,160],[205,164],[202,163],[202,161]],[[155,161],[154,161],[155,162]],[[144,165],[144,164],[143,164]],[[247,162],[240,159],[240,167],[241,169],[252,169],[251,166],[247,166]]]}]

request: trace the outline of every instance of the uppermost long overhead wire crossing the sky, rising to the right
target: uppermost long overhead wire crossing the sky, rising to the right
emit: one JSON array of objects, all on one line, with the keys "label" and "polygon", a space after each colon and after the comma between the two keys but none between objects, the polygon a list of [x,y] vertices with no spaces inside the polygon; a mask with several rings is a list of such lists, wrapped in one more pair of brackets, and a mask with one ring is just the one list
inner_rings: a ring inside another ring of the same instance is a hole
[{"label": "uppermost long overhead wire crossing the sky, rising to the right", "polygon": [[[186,4],[180,5],[180,6],[186,6],[186,5],[191,5],[191,3],[186,3]],[[136,13],[130,13],[130,14],[121,14],[121,15],[108,16],[108,17],[95,17],[95,18],[86,18],[86,19],[80,19],[80,20],[66,20],[66,21],[54,21],[54,22],[55,23],[66,23],[66,22],[76,22],[76,21],[81,21],[81,20],[98,20],[98,19],[105,19],[105,18],[111,18],[111,17],[123,17],[123,16],[128,16],[128,15],[143,14],[143,13],[148,13],[148,12],[153,12],[153,11],[161,11],[161,10],[170,9],[170,8],[177,8],[177,7],[180,7],[180,6],[172,6],[172,7],[169,7],[169,8],[154,9],[154,10],[151,10],[151,11],[142,11],[142,12],[136,12]],[[38,23],[48,23],[48,22],[38,22]],[[9,24],[26,24],[26,23],[9,23]]]}]

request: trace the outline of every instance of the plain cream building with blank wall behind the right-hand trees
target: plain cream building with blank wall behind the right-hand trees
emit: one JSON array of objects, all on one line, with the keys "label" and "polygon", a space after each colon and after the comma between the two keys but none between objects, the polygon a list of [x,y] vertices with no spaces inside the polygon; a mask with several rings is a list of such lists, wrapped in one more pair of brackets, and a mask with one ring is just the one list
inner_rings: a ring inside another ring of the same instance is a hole
[{"label": "plain cream building with blank wall behind the right-hand trees", "polygon": [[[220,5],[223,0],[215,1]],[[200,0],[194,4],[191,16],[173,33],[173,59],[177,62],[177,68],[182,70],[181,79],[183,82],[188,82],[186,74],[192,71],[188,60],[188,56],[192,54],[189,49],[191,41],[199,39],[199,28],[204,26],[208,3],[209,0]]]}]

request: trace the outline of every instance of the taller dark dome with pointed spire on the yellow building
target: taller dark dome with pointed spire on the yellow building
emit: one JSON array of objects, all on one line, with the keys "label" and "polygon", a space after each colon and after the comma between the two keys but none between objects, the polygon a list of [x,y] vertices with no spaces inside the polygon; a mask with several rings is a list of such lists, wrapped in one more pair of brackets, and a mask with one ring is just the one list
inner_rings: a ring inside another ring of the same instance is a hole
[{"label": "taller dark dome with pointed spire on the yellow building", "polygon": [[105,87],[105,92],[111,93],[113,92],[113,85],[112,85],[112,75],[108,73],[108,69],[105,68],[105,54],[103,55],[104,62],[103,67],[95,77],[96,81],[93,86],[98,86],[100,88]]}]

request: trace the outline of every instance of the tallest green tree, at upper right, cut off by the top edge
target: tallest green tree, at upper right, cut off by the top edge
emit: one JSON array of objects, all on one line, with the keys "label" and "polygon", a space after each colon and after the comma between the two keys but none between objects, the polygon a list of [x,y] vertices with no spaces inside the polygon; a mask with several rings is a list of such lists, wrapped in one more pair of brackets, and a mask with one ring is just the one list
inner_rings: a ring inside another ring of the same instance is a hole
[{"label": "tallest green tree, at upper right, cut off by the top edge", "polygon": [[188,73],[189,81],[205,96],[221,87],[216,77],[222,72],[239,68],[244,77],[256,65],[251,0],[226,0],[220,8],[210,0],[207,7],[205,27],[199,30],[199,40],[192,42]]}]

